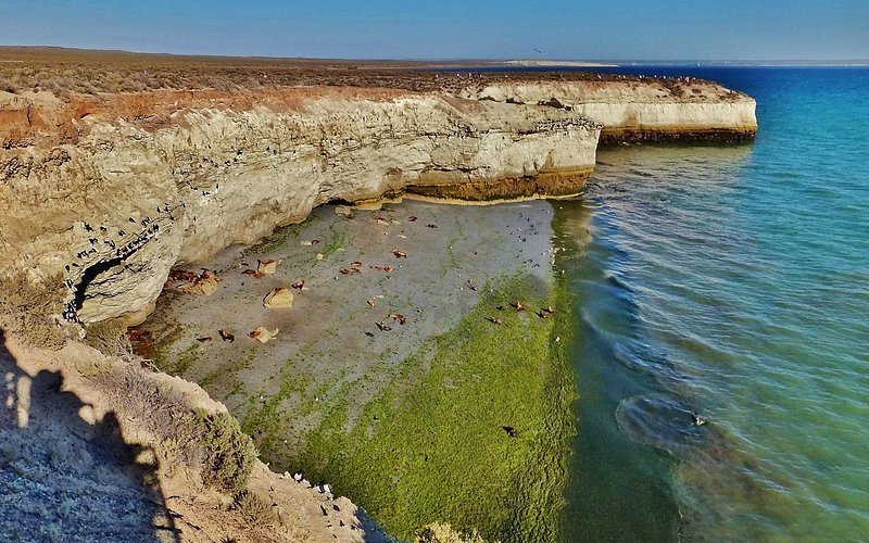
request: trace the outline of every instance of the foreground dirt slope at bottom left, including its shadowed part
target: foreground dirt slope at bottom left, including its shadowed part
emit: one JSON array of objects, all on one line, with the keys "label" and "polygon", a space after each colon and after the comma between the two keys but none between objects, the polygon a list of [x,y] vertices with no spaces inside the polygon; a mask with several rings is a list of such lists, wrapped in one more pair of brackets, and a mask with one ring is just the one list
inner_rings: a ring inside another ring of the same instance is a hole
[{"label": "foreground dirt slope at bottom left, including its shadowed part", "polygon": [[196,384],[2,330],[0,369],[0,532],[15,541],[389,541],[345,497],[236,465],[227,437],[250,440]]}]

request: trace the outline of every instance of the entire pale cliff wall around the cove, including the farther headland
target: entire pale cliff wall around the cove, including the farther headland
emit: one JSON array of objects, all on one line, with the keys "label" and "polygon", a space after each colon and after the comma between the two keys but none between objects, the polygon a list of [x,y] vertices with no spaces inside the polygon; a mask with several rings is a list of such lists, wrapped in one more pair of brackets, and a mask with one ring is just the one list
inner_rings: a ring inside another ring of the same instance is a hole
[{"label": "entire pale cliff wall around the cove, including the farther headland", "polygon": [[131,321],[175,264],[253,242],[325,202],[576,194],[601,124],[608,138],[754,134],[747,97],[709,84],[677,97],[683,87],[0,93],[0,277],[52,278],[66,320]]}]

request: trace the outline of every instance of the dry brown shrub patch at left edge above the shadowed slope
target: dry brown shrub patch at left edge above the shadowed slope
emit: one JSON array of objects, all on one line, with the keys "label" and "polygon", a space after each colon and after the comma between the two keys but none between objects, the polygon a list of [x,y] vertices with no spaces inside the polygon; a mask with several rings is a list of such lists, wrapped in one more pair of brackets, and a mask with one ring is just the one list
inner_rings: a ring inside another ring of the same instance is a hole
[{"label": "dry brown shrub patch at left edge above the shadowed slope", "polygon": [[60,277],[42,283],[30,281],[23,273],[0,278],[0,328],[33,346],[59,350],[66,342],[65,330],[52,317],[62,312]]}]

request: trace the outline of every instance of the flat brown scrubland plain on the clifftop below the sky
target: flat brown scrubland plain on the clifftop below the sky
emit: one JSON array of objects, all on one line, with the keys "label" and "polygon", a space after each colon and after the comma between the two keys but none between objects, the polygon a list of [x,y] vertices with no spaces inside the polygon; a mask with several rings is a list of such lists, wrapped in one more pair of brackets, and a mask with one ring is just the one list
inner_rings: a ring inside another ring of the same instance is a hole
[{"label": "flat brown scrubland plain on the clifftop below the sky", "polygon": [[[457,91],[468,84],[521,80],[639,80],[633,76],[583,72],[466,72],[484,61],[436,63],[181,56],[58,48],[0,47],[0,90],[71,93],[144,90],[278,88],[287,86],[383,87]],[[434,70],[462,70],[440,72]],[[662,80],[678,87],[673,80]]]}]

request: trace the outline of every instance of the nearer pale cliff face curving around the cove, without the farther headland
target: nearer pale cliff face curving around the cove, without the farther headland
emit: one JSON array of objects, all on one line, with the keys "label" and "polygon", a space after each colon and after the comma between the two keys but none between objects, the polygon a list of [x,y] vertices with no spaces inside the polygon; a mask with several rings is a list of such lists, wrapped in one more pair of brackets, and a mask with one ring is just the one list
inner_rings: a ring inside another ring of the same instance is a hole
[{"label": "nearer pale cliff face curving around the cove, without the farther headland", "polygon": [[325,202],[577,193],[600,134],[577,112],[433,93],[178,106],[155,129],[100,114],[73,123],[74,143],[0,151],[0,275],[59,277],[67,316],[84,321],[142,318],[176,263]]}]

